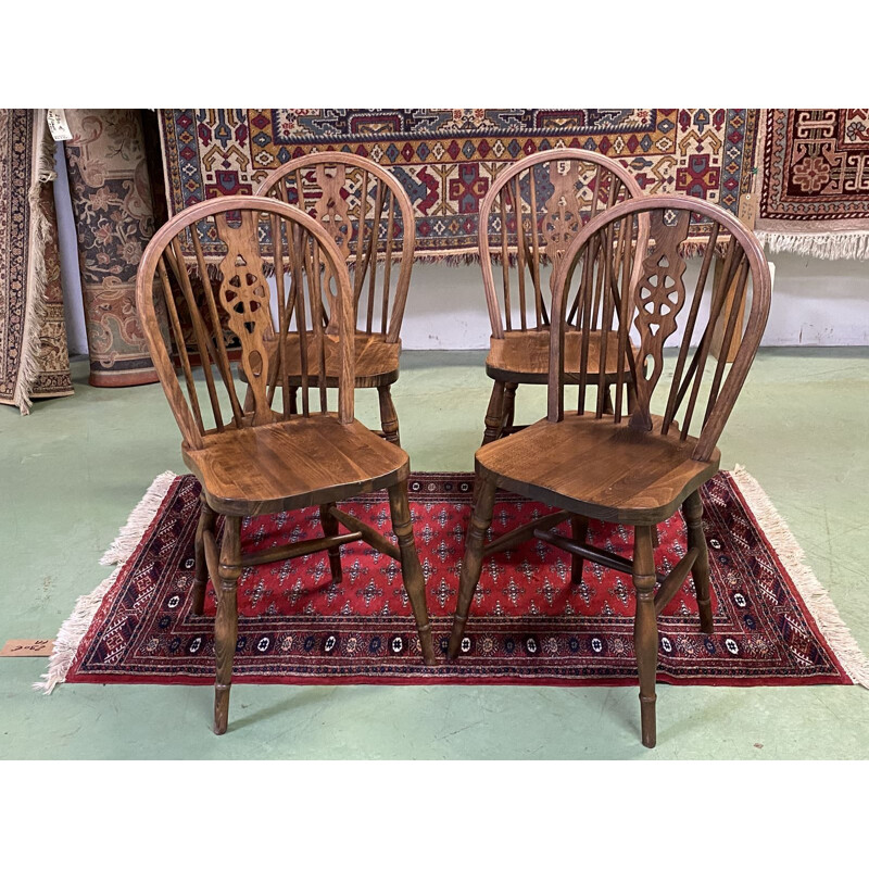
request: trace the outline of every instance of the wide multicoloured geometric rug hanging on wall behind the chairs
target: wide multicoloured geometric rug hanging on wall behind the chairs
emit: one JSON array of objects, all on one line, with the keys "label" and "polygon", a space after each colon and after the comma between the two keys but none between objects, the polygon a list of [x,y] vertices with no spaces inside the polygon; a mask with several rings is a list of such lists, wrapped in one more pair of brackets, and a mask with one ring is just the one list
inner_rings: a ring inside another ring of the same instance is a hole
[{"label": "wide multicoloured geometric rug hanging on wall behind the chairs", "polygon": [[[313,151],[388,166],[413,203],[418,259],[477,255],[480,203],[505,166],[584,148],[629,167],[647,193],[687,193],[736,213],[752,187],[757,110],[164,109],[168,210],[252,193],[269,171]],[[540,198],[541,207],[545,197]],[[708,227],[692,226],[702,247]],[[206,255],[216,256],[209,250]],[[192,251],[188,251],[192,254]]]}]

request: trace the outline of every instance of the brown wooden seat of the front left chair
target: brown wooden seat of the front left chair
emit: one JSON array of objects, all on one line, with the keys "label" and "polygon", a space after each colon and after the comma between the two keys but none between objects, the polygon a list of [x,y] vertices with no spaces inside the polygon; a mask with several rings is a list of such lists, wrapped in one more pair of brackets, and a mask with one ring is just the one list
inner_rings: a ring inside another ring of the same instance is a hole
[{"label": "brown wooden seat of the front left chair", "polygon": [[335,414],[209,433],[202,450],[184,445],[182,453],[209,505],[232,516],[341,501],[393,486],[410,471],[403,450]]}]

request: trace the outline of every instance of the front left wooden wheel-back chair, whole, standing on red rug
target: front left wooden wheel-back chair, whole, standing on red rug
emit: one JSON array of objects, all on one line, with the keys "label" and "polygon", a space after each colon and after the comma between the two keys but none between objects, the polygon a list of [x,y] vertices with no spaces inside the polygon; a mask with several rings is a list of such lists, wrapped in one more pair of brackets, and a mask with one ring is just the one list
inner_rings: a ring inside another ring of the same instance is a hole
[{"label": "front left wooden wheel-back chair, whole, standing on red rug", "polygon": [[[226,247],[216,277],[202,254],[200,232]],[[196,269],[205,290],[201,305],[193,298],[182,240],[196,251]],[[270,254],[265,243],[274,249]],[[274,269],[275,292],[264,277],[266,269]],[[171,340],[158,324],[155,294],[168,311]],[[324,299],[330,305],[330,333],[323,326]],[[226,731],[238,630],[237,585],[251,565],[328,550],[332,580],[340,582],[339,547],[366,541],[401,562],[423,657],[433,664],[424,577],[407,504],[407,455],[353,418],[353,288],[343,255],[323,226],[274,199],[225,197],[193,205],[163,226],[148,245],[139,266],[137,303],[151,357],[184,437],[185,464],[202,483],[192,612],[202,614],[211,580],[217,596],[215,732]],[[193,377],[179,311],[192,323],[204,383],[198,385]],[[239,367],[252,396],[248,411],[239,402],[227,357],[228,332],[241,344]],[[180,375],[171,361],[172,344],[180,358]],[[337,378],[337,413],[327,411],[324,370],[335,371]],[[299,413],[290,407],[291,371],[298,371],[300,381]],[[273,406],[276,395],[282,401]],[[398,545],[336,506],[378,489],[389,490]],[[267,553],[242,552],[244,516],[316,505],[324,537]],[[224,517],[219,552],[216,514]],[[348,532],[341,533],[339,525]]]}]

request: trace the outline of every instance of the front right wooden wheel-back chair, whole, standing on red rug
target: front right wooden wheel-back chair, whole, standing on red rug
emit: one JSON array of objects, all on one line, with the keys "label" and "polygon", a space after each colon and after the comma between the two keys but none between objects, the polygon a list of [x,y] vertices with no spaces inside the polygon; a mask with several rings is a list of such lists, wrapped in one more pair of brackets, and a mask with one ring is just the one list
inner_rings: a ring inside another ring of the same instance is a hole
[{"label": "front right wooden wheel-back chair, whole, standing on red rug", "polygon": [[[638,244],[639,217],[643,214],[648,215],[651,236],[647,242]],[[683,282],[685,263],[681,249],[692,214],[711,223],[711,236],[697,282],[689,292]],[[723,268],[719,279],[713,280],[708,314],[702,315],[701,298],[718,255],[716,245],[726,235],[730,239]],[[640,269],[634,272],[638,262]],[[639,281],[632,275],[639,276]],[[738,312],[750,275],[751,310],[743,326]],[[594,291],[599,279],[605,287],[602,293]],[[735,303],[726,313],[725,299],[731,282]],[[564,310],[574,284],[578,288],[580,341],[578,357],[571,364],[579,371],[579,405],[577,413],[566,414],[564,357],[572,348],[565,341]],[[482,558],[521,537],[508,533],[484,546],[495,489],[542,501],[557,512],[533,524],[533,534],[571,554],[574,582],[582,581],[584,559],[632,577],[642,741],[654,746],[656,619],[690,571],[696,588],[701,630],[714,630],[698,489],[718,469],[720,453],[716,442],[757,351],[769,301],[769,270],[760,245],[735,217],[717,205],[687,197],[647,197],[622,202],[584,227],[558,265],[554,281],[552,316],[558,328],[551,333],[546,418],[481,446],[476,454],[477,500],[459,577],[449,658],[461,650]],[[713,332],[722,318],[725,345],[734,341],[739,350],[731,366],[719,358],[707,371]],[[603,323],[599,341],[591,340],[590,324],[594,322]],[[683,326],[681,335],[677,325]],[[638,338],[645,368],[634,365],[629,351],[631,330]],[[673,342],[678,339],[678,351],[665,365],[664,344],[671,337]],[[619,364],[614,410],[607,414],[602,389],[606,374],[600,362],[608,358],[613,348]],[[596,365],[593,354],[597,355]],[[630,413],[625,412],[628,385],[622,374],[628,369],[637,385]],[[585,392],[592,385],[597,387],[596,402],[587,407]],[[663,393],[659,400],[654,395],[656,389]],[[688,552],[668,576],[656,575],[652,529],[680,505],[688,526]],[[587,545],[589,518],[633,526],[633,559]],[[571,520],[569,538],[551,530],[567,519]],[[660,583],[657,591],[656,583]]]}]

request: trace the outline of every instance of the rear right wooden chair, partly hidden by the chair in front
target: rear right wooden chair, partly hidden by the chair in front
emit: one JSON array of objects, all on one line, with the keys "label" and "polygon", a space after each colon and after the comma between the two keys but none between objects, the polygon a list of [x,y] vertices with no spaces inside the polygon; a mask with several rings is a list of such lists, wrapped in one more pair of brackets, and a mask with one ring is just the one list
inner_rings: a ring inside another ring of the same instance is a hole
[{"label": "rear right wooden chair, partly hidden by the chair in front", "polygon": [[[492,326],[486,373],[494,380],[484,444],[518,430],[513,425],[518,385],[546,382],[550,314],[541,260],[547,259],[553,266],[551,290],[555,267],[583,223],[617,202],[640,196],[640,186],[628,169],[603,154],[578,148],[531,154],[502,173],[490,188],[480,206],[479,225],[480,263]],[[518,214],[521,219],[517,219]],[[500,288],[495,287],[492,253],[501,260]],[[515,290],[511,288],[514,261],[518,272]],[[576,310],[567,315],[568,350],[578,347],[576,315]],[[597,329],[592,328],[592,340],[597,336]],[[596,365],[597,356],[592,355],[590,364]],[[568,358],[574,357],[576,353],[568,353]],[[606,360],[604,371],[604,389],[608,390],[617,376],[614,357]],[[567,373],[569,382],[577,376],[578,371]]]}]

